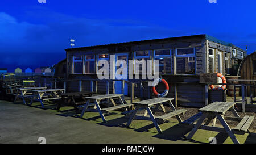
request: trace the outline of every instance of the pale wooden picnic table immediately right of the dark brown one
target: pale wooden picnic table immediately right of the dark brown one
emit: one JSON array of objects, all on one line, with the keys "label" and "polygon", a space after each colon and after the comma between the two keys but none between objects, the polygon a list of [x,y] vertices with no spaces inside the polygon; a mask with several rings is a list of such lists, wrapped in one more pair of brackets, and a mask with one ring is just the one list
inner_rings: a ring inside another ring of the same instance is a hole
[{"label": "pale wooden picnic table immediately right of the dark brown one", "polygon": [[[80,118],[83,118],[85,111],[87,111],[88,107],[92,106],[92,105],[94,106],[94,108],[97,109],[97,112],[100,113],[103,122],[106,122],[105,116],[103,114],[104,112],[109,112],[110,110],[117,110],[119,108],[125,108],[125,110],[127,111],[126,107],[132,106],[132,104],[123,103],[123,100],[121,98],[122,95],[123,94],[106,94],[106,95],[97,95],[97,96],[93,96],[93,97],[86,97],[86,99],[88,99],[88,100],[84,106],[84,109],[82,110]],[[119,104],[119,105],[115,104],[114,98],[118,98],[118,100],[121,104]],[[102,102],[103,99],[109,99],[111,101],[111,103],[113,104],[113,107],[101,108],[100,102]],[[91,101],[93,103],[90,103]]]}]

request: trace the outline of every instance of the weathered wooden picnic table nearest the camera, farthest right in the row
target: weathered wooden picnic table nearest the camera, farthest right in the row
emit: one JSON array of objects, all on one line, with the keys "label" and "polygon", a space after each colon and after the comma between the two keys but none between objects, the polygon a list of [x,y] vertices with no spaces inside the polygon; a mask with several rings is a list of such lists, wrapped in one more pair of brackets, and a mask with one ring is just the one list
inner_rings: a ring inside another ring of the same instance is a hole
[{"label": "weathered wooden picnic table nearest the camera, farthest right in the row", "polygon": [[[226,132],[229,137],[232,139],[233,143],[239,144],[237,140],[236,134],[243,135],[245,132],[249,132],[250,124],[253,122],[254,116],[245,116],[240,118],[234,109],[234,102],[214,102],[199,109],[201,112],[201,116],[197,121],[196,125],[193,127],[192,131],[187,136],[187,139],[192,139],[193,135],[196,133],[197,129],[205,129],[208,131],[217,131],[217,132]],[[225,112],[231,110],[235,117],[225,117]],[[220,123],[224,128],[215,127],[216,118],[220,120]],[[201,125],[207,119],[204,125]],[[212,126],[208,126],[208,124],[212,122]],[[234,129],[230,129],[229,125],[226,123],[226,120],[233,120],[239,122],[238,125]]]}]

